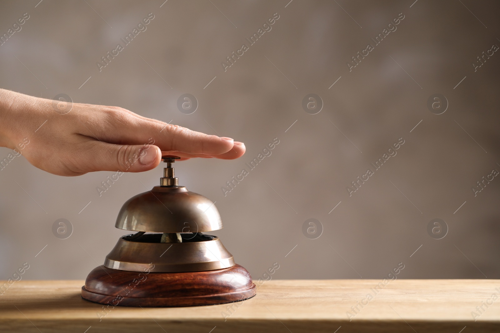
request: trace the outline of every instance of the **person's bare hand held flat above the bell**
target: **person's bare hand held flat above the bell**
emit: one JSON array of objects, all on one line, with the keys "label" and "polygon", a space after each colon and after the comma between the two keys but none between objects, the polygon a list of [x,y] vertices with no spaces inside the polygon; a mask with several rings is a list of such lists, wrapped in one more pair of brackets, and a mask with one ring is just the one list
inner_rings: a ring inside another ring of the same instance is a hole
[{"label": "person's bare hand held flat above the bell", "polygon": [[[29,143],[19,149],[24,138]],[[169,125],[121,107],[71,104],[4,89],[0,146],[16,149],[35,167],[60,176],[147,171],[160,163],[162,152],[182,160],[235,159],[245,152],[244,144],[231,138]]]}]

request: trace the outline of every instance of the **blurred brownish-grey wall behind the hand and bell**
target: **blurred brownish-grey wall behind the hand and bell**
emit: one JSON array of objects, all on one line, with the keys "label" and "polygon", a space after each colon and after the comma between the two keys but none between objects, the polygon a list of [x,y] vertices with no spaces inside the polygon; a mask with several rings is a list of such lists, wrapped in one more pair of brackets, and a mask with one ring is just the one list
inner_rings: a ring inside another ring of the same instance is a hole
[{"label": "blurred brownish-grey wall behind the hand and bell", "polygon": [[[244,142],[240,159],[191,159],[175,171],[216,201],[224,229],[213,234],[254,279],[275,262],[279,279],[382,278],[398,263],[401,278],[500,278],[500,177],[472,191],[500,171],[500,54],[472,65],[500,45],[498,2],[288,1],[2,1],[1,34],[29,19],[0,46],[0,87],[65,93]],[[148,13],[147,29],[99,72],[96,62]],[[224,71],[274,13],[272,29]],[[199,103],[189,115],[177,109],[184,93]],[[322,100],[317,114],[302,108],[309,93]],[[427,107],[433,94],[445,96],[444,113]],[[224,196],[274,138],[272,154]],[[125,174],[99,197],[113,172],[65,178],[15,158],[0,171],[0,278],[27,262],[24,279],[84,279],[126,234],[114,228],[123,202],[161,172]],[[52,233],[61,218],[73,228],[67,239]],[[315,230],[303,228],[308,219],[320,222]],[[429,232],[433,219],[445,225]]]}]

